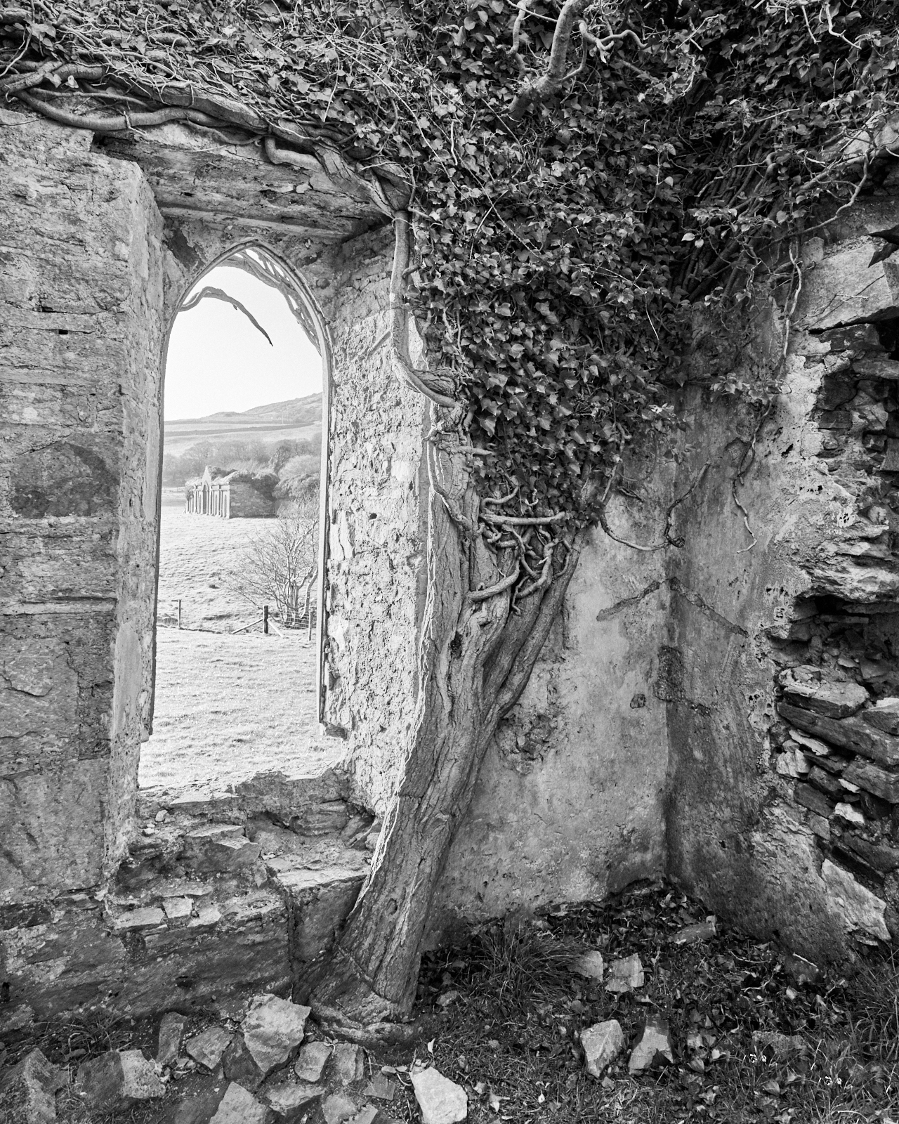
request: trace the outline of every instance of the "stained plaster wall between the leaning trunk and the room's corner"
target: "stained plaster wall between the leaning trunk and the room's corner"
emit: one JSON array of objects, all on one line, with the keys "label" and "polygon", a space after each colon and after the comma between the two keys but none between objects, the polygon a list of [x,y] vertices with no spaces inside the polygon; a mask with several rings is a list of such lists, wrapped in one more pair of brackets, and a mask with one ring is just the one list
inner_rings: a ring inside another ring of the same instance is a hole
[{"label": "stained plaster wall between the leaning trunk and the room's corner", "polygon": [[[610,507],[625,537],[657,527]],[[581,555],[564,614],[502,724],[451,852],[432,940],[548,901],[601,898],[664,863],[665,705],[660,553],[600,532]]]}]

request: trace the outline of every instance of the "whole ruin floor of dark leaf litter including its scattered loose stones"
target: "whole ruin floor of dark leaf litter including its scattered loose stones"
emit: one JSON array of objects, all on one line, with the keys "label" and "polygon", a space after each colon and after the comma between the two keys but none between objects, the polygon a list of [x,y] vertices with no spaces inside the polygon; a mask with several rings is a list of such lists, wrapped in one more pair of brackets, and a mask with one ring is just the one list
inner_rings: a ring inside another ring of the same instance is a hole
[{"label": "whole ruin floor of dark leaf litter including its scattered loose stones", "polygon": [[266,994],[35,1027],[6,1043],[0,1122],[897,1124],[897,994],[890,960],[830,977],[644,885],[429,953],[411,1045],[339,1041]]}]

